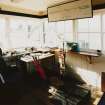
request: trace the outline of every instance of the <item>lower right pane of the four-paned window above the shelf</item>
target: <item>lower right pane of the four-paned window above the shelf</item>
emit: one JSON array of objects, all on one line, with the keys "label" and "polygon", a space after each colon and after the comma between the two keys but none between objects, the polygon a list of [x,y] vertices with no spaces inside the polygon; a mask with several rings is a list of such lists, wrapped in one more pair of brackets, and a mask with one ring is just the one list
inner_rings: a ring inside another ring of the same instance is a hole
[{"label": "lower right pane of the four-paned window above the shelf", "polygon": [[101,34],[89,34],[89,49],[101,50]]}]

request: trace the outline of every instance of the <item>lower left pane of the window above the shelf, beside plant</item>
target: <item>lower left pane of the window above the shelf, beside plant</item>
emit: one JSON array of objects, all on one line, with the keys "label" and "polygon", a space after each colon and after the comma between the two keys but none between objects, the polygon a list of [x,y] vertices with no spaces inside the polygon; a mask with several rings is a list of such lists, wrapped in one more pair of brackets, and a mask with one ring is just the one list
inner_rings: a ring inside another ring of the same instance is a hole
[{"label": "lower left pane of the window above the shelf, beside plant", "polygon": [[78,43],[80,48],[88,49],[89,43],[88,43],[88,33],[78,33]]}]

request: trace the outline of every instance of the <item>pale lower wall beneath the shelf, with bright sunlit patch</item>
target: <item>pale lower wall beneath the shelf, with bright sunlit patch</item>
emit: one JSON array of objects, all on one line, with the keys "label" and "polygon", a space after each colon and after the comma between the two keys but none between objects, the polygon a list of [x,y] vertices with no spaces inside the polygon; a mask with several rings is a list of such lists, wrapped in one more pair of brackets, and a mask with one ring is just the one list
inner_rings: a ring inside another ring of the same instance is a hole
[{"label": "pale lower wall beneath the shelf, with bright sunlit patch", "polygon": [[67,53],[66,63],[71,65],[89,85],[101,88],[101,72],[105,72],[105,55],[92,58],[92,64],[83,55]]}]

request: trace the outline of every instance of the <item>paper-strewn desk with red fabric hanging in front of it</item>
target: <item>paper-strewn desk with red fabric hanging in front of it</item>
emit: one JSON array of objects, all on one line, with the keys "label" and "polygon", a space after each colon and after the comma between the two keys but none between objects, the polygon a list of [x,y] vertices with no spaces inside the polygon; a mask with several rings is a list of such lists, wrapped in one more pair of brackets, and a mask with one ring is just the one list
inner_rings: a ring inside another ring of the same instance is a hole
[{"label": "paper-strewn desk with red fabric hanging in front of it", "polygon": [[[35,55],[36,56],[36,55]],[[41,65],[46,65],[46,66],[54,66],[55,64],[55,55],[51,53],[46,53],[46,54],[40,54],[37,56],[37,58],[40,60]],[[31,72],[32,70],[32,61],[33,57],[32,56],[25,56],[20,58],[21,62],[23,62],[25,72]]]}]

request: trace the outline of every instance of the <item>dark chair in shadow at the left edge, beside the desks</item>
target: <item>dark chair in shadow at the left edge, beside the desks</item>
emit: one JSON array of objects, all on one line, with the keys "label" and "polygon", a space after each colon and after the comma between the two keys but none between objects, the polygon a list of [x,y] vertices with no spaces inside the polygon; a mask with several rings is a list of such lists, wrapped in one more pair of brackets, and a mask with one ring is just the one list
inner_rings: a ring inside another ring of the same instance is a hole
[{"label": "dark chair in shadow at the left edge, beside the desks", "polygon": [[22,73],[16,67],[7,66],[0,56],[0,105],[12,105],[21,94]]}]

